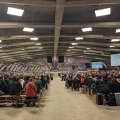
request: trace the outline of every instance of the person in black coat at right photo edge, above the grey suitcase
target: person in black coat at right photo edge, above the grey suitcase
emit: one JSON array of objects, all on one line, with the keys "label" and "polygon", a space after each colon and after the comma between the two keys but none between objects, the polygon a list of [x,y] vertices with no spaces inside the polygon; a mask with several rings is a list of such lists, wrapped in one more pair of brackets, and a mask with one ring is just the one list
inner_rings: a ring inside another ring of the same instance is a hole
[{"label": "person in black coat at right photo edge, above the grey suitcase", "polygon": [[120,92],[120,83],[115,78],[108,85],[112,93]]}]

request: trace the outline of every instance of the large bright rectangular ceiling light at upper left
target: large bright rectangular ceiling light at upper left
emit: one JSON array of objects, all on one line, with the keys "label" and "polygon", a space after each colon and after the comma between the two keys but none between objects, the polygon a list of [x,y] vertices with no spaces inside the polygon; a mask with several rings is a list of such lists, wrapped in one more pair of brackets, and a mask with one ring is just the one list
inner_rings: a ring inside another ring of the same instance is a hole
[{"label": "large bright rectangular ceiling light at upper left", "polygon": [[7,14],[16,15],[16,16],[22,16],[23,12],[24,12],[24,10],[22,10],[22,9],[8,7]]}]

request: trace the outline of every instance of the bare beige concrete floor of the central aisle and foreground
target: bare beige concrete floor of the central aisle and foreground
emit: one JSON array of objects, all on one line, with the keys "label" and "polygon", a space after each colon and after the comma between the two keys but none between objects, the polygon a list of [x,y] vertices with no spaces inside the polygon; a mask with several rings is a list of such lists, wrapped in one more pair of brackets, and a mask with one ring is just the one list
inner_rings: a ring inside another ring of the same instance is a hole
[{"label": "bare beige concrete floor of the central aisle and foreground", "polygon": [[98,106],[78,91],[65,88],[57,75],[49,85],[40,108],[0,107],[0,120],[119,120],[120,106]]}]

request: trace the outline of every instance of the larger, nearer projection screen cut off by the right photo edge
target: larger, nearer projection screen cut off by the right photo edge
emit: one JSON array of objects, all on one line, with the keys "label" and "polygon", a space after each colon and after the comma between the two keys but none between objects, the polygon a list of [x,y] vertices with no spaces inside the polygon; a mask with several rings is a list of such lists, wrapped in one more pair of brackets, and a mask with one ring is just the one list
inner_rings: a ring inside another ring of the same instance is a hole
[{"label": "larger, nearer projection screen cut off by the right photo edge", "polygon": [[120,66],[120,53],[111,55],[111,66]]}]

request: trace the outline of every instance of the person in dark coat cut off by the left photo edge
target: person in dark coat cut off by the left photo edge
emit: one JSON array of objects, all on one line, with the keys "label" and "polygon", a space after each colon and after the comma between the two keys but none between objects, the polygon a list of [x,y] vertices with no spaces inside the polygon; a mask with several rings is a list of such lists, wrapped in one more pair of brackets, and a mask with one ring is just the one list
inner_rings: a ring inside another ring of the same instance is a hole
[{"label": "person in dark coat cut off by the left photo edge", "polygon": [[9,81],[7,79],[7,76],[4,77],[4,79],[1,81],[0,83],[0,89],[2,92],[4,92],[5,94],[8,94],[9,93],[9,90],[8,90],[8,84],[9,84]]}]

